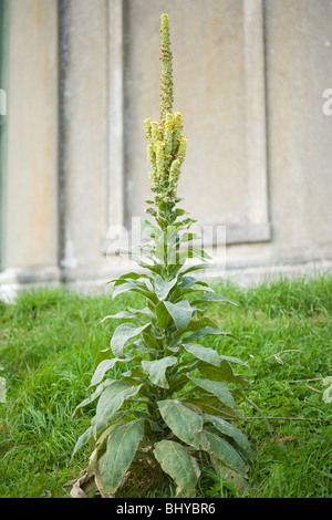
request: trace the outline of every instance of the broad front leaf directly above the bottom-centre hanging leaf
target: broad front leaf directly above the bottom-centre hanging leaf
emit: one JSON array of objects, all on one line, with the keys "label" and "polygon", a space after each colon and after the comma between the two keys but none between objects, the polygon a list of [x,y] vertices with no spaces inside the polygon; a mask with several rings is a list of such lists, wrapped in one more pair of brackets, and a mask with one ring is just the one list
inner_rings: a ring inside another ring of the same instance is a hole
[{"label": "broad front leaf directly above the bottom-centre hanging leaf", "polygon": [[203,430],[201,415],[184,406],[178,399],[159,401],[159,412],[174,435],[184,443],[199,447],[199,433]]}]

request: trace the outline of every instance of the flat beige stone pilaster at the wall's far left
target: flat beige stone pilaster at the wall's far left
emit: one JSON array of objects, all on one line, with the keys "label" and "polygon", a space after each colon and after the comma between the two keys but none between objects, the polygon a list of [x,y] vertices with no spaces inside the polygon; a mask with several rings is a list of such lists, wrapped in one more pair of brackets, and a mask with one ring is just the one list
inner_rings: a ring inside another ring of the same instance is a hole
[{"label": "flat beige stone pilaster at the wall's far left", "polygon": [[7,268],[58,266],[56,20],[53,0],[10,2]]}]

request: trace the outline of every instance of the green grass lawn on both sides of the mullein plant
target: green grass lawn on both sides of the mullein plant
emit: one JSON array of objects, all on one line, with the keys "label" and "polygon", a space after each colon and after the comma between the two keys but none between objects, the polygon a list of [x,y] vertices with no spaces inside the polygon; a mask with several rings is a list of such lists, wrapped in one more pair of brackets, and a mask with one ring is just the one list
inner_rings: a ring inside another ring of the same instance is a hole
[{"label": "green grass lawn on both sides of the mullein plant", "polygon": [[[270,419],[240,404],[246,420],[236,425],[249,437],[256,462],[249,475],[249,497],[332,497],[332,404],[322,399],[322,378],[332,375],[332,277],[257,288],[215,285],[238,306],[214,305],[210,315],[234,332],[206,340],[219,353],[246,361],[241,371],[251,382],[248,395]],[[0,497],[68,497],[64,485],[86,466],[89,453],[71,460],[87,416],[72,419],[85,398],[95,354],[108,346],[115,323],[97,322],[133,295],[79,295],[63,289],[22,293],[15,304],[0,302],[0,375],[7,401],[0,403]],[[242,367],[241,367],[242,368]],[[312,382],[302,379],[317,379]],[[300,382],[299,382],[300,381]],[[139,486],[124,489],[139,496]],[[237,491],[206,468],[200,497],[238,497]],[[174,496],[169,481],[149,496]]]}]

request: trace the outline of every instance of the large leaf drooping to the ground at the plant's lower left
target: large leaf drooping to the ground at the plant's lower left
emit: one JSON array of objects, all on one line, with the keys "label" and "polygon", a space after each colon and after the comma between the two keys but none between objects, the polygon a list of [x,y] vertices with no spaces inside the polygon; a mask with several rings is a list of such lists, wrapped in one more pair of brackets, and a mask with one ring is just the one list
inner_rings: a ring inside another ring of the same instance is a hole
[{"label": "large leaf drooping to the ground at the plant's lower left", "polygon": [[98,462],[98,472],[103,490],[114,493],[129,468],[137,447],[144,436],[144,420],[115,426],[107,440],[106,451]]}]

